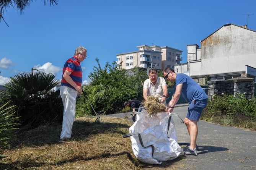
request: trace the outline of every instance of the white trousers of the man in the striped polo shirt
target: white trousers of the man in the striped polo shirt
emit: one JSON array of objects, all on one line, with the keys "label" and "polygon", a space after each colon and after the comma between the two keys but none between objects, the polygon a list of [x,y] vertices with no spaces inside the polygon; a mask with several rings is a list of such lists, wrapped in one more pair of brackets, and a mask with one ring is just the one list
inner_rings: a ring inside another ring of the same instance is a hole
[{"label": "white trousers of the man in the striped polo shirt", "polygon": [[67,86],[60,86],[60,96],[64,106],[60,139],[70,138],[72,135],[72,126],[75,119],[77,91]]}]

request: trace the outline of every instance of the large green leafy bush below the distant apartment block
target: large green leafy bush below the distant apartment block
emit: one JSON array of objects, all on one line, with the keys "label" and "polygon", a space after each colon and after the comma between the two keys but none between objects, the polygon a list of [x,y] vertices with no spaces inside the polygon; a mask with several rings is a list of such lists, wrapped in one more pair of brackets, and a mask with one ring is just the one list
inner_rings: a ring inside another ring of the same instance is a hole
[{"label": "large green leafy bush below the distant apartment block", "polygon": [[[147,74],[138,68],[127,73],[115,62],[106,63],[104,68],[99,64],[94,66],[93,72],[89,74],[91,84],[83,87],[93,108],[103,114],[119,112],[124,107],[124,101],[137,99],[142,96],[142,84]],[[144,75],[143,75],[144,74]],[[77,101],[77,116],[94,115],[88,101],[82,96]]]}]

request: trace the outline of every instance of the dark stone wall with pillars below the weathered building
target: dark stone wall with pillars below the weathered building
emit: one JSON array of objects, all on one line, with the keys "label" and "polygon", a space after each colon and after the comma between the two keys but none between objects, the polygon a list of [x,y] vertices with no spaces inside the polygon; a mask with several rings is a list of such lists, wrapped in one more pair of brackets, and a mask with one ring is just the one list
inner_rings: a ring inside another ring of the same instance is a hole
[{"label": "dark stone wall with pillars below the weathered building", "polygon": [[229,80],[207,81],[208,97],[212,100],[214,95],[222,93],[233,95],[245,94],[247,99],[254,97],[254,79],[247,77],[238,77]]}]

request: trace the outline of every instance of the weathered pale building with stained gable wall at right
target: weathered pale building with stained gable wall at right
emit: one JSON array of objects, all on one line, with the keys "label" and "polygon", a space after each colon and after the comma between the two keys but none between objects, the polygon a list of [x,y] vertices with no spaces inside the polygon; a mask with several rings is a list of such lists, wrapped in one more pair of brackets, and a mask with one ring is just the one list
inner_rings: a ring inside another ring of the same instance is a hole
[{"label": "weathered pale building with stained gable wall at right", "polygon": [[226,24],[197,44],[187,45],[187,63],[176,64],[200,85],[206,80],[226,80],[241,75],[256,77],[256,31]]}]

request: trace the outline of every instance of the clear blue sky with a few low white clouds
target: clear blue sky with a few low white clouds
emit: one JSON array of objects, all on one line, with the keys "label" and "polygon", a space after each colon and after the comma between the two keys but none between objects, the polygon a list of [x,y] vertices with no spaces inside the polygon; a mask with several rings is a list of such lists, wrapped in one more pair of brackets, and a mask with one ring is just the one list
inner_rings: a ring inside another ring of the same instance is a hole
[{"label": "clear blue sky with a few low white clouds", "polygon": [[[43,0],[42,0],[43,1]],[[254,14],[248,15],[245,14]],[[0,23],[0,85],[11,76],[36,68],[61,79],[65,61],[82,45],[83,82],[97,66],[117,60],[139,45],[183,51],[225,24],[256,30],[256,0],[59,0],[58,5],[31,3],[20,15],[7,8]],[[242,42],[241,42],[242,43]]]}]

